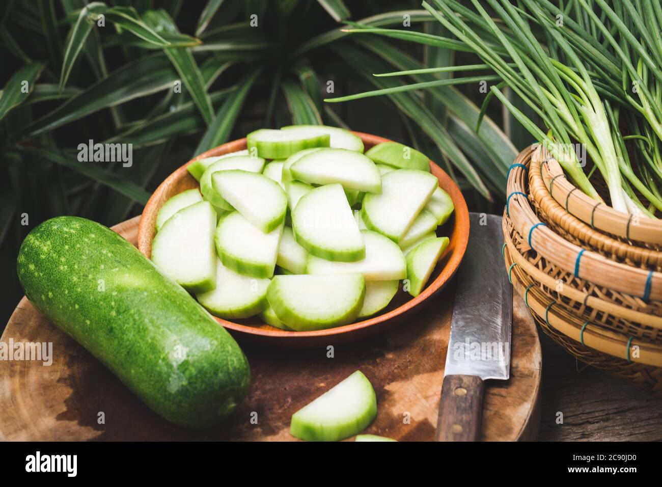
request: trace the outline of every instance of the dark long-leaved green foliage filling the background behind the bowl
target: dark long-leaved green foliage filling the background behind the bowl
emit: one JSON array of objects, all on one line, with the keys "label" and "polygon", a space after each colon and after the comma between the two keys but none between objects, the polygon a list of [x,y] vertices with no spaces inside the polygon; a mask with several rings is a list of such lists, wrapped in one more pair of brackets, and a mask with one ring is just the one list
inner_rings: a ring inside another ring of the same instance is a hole
[{"label": "dark long-leaved green foliage filling the background behind the bowl", "polygon": [[[471,209],[498,213],[515,147],[529,137],[497,107],[490,115],[507,135],[491,121],[473,132],[485,97],[477,84],[324,103],[403,83],[375,72],[467,62],[439,46],[350,36],[347,19],[443,34],[418,1],[4,1],[0,326],[23,294],[15,259],[30,229],[56,215],[109,226],[138,215],[175,168],[260,127],[324,123],[399,140],[446,169]],[[132,143],[132,166],[78,162],[90,139]]]}]

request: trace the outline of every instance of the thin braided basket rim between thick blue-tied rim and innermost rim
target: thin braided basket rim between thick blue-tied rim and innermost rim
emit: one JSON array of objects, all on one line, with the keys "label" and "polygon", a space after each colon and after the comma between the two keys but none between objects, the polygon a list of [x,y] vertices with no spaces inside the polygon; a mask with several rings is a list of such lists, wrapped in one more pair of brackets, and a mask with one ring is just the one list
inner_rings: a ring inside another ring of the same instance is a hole
[{"label": "thin braided basket rim between thick blue-tied rim and innermost rim", "polygon": [[627,256],[638,264],[652,265],[657,268],[662,266],[662,252],[659,250],[624,243],[614,239],[610,235],[596,231],[559,204],[549,192],[549,189],[555,188],[556,183],[550,181],[549,187],[545,185],[545,180],[542,176],[543,164],[536,155],[534,154],[531,158],[529,192],[549,220],[567,231],[567,233],[573,235],[573,237],[587,243],[593,248],[602,248],[619,258]]}]

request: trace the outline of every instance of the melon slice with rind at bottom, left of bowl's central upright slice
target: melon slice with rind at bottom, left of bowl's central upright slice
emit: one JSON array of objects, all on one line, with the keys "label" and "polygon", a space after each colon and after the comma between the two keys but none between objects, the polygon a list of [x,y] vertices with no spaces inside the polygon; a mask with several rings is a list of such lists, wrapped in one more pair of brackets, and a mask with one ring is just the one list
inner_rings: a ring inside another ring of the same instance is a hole
[{"label": "melon slice with rind at bottom, left of bowl's central upright slice", "polygon": [[216,227],[216,254],[234,272],[268,279],[273,276],[282,233],[283,225],[264,233],[233,211],[224,215]]}]

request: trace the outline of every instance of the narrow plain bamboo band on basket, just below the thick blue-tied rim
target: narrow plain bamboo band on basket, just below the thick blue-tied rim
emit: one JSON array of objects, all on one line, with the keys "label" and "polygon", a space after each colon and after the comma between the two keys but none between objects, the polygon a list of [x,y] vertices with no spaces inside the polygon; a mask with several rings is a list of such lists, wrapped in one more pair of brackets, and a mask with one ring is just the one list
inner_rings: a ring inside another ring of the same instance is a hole
[{"label": "narrow plain bamboo band on basket, just below the thick blue-tied rim", "polygon": [[[551,276],[549,276],[549,274],[545,274],[545,272],[542,272],[542,270],[534,266],[534,264],[532,264],[525,256],[523,256],[519,250],[517,250],[514,243],[512,243],[512,239],[510,239],[508,235],[508,229],[506,228],[507,219],[508,217],[504,215],[502,224],[504,233],[504,245],[506,246],[504,252],[507,250],[510,253],[512,262],[515,262],[518,267],[523,269],[524,272],[528,274],[528,276],[532,276],[534,280],[541,282],[549,288],[555,288],[556,281]],[[563,286],[563,290],[557,290],[557,292],[566,298],[572,299],[578,303],[585,303],[587,306],[590,306],[594,309],[599,309],[600,311],[615,317],[630,319],[632,321],[636,321],[637,323],[641,323],[642,325],[662,330],[662,317],[650,315],[649,313],[644,313],[643,311],[636,311],[636,309],[631,309],[611,301],[596,298],[595,296],[591,296],[591,294],[585,293],[570,285]]]}]

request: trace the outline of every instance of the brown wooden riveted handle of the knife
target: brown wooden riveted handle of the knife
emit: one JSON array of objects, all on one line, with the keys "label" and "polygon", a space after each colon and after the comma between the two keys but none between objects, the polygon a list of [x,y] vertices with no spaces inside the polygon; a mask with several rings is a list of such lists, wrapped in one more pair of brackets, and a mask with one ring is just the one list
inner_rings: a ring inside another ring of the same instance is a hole
[{"label": "brown wooden riveted handle of the knife", "polygon": [[483,418],[483,380],[446,376],[439,403],[436,441],[478,441]]}]

